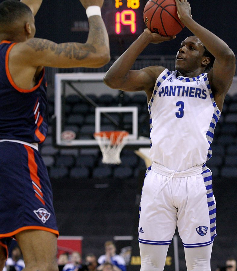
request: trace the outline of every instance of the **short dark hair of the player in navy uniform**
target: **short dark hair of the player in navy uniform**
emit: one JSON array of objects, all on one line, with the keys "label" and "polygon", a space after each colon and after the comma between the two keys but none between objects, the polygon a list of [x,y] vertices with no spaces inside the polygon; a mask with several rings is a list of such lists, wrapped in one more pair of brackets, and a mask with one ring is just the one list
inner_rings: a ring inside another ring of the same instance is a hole
[{"label": "short dark hair of the player in navy uniform", "polygon": [[32,15],[31,9],[17,0],[5,0],[0,4],[0,26],[6,26],[20,20],[26,14]]}]

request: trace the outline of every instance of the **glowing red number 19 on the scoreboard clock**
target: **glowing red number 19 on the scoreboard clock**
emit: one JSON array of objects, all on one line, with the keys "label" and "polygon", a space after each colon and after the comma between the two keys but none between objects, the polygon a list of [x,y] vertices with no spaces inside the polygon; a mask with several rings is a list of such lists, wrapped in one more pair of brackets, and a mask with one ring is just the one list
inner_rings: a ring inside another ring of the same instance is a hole
[{"label": "glowing red number 19 on the scoreboard clock", "polygon": [[123,10],[121,13],[119,11],[116,12],[115,21],[115,32],[117,34],[121,32],[121,23],[130,25],[131,33],[134,34],[136,32],[136,13],[133,10]]}]

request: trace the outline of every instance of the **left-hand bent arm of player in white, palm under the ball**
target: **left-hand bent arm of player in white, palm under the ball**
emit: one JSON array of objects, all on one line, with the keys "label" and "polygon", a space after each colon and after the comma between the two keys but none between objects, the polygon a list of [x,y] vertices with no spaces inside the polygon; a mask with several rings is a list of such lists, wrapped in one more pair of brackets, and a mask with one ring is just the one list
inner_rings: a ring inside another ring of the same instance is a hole
[{"label": "left-hand bent arm of player in white, palm under the ball", "polygon": [[153,90],[157,76],[164,67],[147,67],[141,70],[130,70],[137,57],[149,43],[161,43],[175,38],[164,37],[145,29],[138,39],[115,61],[104,77],[104,83],[112,89],[124,91]]}]

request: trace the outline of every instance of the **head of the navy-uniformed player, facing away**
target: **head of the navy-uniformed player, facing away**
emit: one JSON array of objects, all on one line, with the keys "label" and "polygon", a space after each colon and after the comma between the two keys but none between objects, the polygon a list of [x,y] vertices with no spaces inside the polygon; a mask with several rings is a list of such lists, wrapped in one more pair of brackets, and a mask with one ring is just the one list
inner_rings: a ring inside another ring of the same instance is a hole
[{"label": "head of the navy-uniformed player, facing away", "polygon": [[0,4],[0,39],[23,42],[35,35],[35,19],[31,9],[17,0]]}]

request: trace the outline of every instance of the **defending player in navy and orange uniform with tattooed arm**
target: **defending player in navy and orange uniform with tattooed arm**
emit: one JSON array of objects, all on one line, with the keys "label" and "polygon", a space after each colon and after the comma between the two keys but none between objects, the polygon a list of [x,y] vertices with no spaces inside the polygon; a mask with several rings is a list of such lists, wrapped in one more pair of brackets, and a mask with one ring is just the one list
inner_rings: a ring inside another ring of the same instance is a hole
[{"label": "defending player in navy and orange uniform with tattooed arm", "polygon": [[34,38],[42,0],[0,4],[0,270],[13,237],[24,270],[58,270],[51,185],[38,151],[48,127],[44,66],[101,67],[110,59],[103,0],[80,1],[89,20],[84,44]]}]

